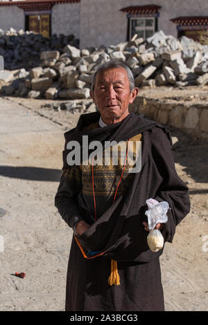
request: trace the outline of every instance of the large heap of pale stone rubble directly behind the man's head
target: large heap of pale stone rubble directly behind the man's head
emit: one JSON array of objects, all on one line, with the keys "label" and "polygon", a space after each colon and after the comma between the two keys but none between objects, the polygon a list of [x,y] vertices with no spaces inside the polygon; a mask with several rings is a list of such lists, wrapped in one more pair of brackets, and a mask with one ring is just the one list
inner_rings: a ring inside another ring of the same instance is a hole
[{"label": "large heap of pale stone rubble directly behind the man's head", "polygon": [[15,71],[14,80],[3,86],[1,93],[49,100],[87,99],[96,67],[112,59],[131,68],[138,87],[208,83],[208,45],[187,37],[176,39],[161,30],[146,40],[135,35],[131,41],[116,46],[88,46],[80,50],[67,44],[62,52],[44,50],[40,66],[30,71],[24,68]]}]

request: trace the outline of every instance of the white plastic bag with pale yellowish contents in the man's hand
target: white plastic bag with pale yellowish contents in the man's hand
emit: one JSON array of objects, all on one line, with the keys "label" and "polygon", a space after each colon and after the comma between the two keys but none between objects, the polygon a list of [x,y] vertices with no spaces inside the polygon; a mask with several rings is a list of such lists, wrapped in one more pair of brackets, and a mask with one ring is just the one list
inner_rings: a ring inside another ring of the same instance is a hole
[{"label": "white plastic bag with pale yellowish contents in the man's hand", "polygon": [[166,223],[168,216],[166,215],[169,205],[166,201],[158,202],[154,198],[149,198],[146,201],[148,210],[145,212],[148,216],[148,228],[150,233],[147,236],[147,242],[152,252],[161,250],[164,245],[164,238],[159,229],[154,229],[157,223]]}]

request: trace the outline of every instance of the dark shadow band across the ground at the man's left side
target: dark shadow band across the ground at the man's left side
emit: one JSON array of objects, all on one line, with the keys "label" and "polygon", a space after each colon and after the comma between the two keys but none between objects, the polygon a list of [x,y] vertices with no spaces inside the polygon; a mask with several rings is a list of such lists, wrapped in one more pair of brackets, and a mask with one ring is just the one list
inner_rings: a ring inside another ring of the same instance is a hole
[{"label": "dark shadow band across the ground at the man's left side", "polygon": [[0,176],[20,178],[24,180],[59,182],[61,174],[62,169],[0,166]]}]

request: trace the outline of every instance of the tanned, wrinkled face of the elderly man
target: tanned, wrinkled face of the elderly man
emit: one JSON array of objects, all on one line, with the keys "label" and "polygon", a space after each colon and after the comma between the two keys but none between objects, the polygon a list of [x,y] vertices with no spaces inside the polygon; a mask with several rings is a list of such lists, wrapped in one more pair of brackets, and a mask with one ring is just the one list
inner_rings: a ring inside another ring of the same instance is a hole
[{"label": "tanned, wrinkled face of the elderly man", "polygon": [[94,93],[91,94],[106,124],[120,122],[128,114],[128,105],[137,96],[138,89],[130,93],[125,68],[110,68],[96,75]]}]

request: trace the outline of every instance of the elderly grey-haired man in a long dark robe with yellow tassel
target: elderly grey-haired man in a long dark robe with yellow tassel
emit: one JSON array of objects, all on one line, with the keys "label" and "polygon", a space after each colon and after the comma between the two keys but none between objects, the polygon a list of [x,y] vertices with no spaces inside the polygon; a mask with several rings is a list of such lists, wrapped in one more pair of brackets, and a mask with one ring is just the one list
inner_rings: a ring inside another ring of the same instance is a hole
[{"label": "elderly grey-haired man in a long dark robe with yellow tassel", "polygon": [[[55,206],[73,228],[66,310],[164,310],[159,266],[163,248],[153,252],[148,247],[146,201],[168,202],[168,221],[155,228],[170,243],[176,225],[189,213],[190,202],[188,188],[175,171],[168,129],[129,112],[138,91],[128,66],[106,62],[92,82],[98,111],[80,115],[76,128],[64,133],[63,171]],[[90,146],[93,141],[107,143],[103,157],[117,143],[124,143],[126,149],[117,151],[116,164],[112,156],[108,156],[110,163],[105,159],[98,163],[98,151],[94,154]],[[135,145],[130,152],[132,142],[141,144],[140,154]],[[72,165],[69,157],[75,151],[71,144],[76,143],[80,156]],[[141,159],[136,171],[131,169],[130,154]]]}]

